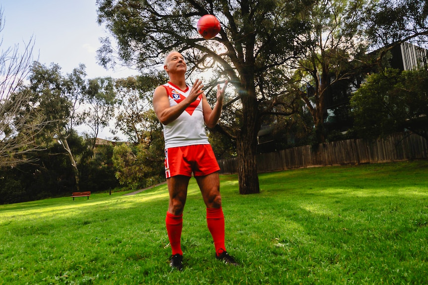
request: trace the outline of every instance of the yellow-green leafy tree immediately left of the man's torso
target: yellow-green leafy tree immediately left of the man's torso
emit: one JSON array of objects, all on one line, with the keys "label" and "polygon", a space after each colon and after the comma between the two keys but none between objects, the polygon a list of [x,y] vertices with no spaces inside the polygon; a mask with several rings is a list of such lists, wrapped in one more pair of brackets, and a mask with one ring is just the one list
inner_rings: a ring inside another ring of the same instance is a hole
[{"label": "yellow-green leafy tree immediately left of the man's torso", "polygon": [[[123,184],[145,187],[165,179],[162,125],[152,109],[151,96],[153,86],[166,80],[164,73],[116,80],[115,126],[134,144],[133,148],[115,147],[116,174]],[[134,160],[127,163],[130,157]]]}]

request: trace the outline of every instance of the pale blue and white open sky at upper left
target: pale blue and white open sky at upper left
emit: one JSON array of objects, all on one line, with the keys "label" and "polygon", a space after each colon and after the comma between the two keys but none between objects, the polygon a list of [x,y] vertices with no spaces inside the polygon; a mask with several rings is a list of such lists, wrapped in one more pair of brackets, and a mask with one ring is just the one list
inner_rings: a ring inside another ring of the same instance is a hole
[{"label": "pale blue and white open sky at upper left", "polygon": [[[19,45],[20,51],[33,37],[33,58],[49,66],[61,66],[63,74],[85,64],[87,78],[113,78],[136,75],[137,71],[120,67],[105,70],[96,62],[100,37],[108,36],[97,23],[96,0],[0,0],[4,20],[0,32],[0,50]],[[112,124],[110,124],[112,126]],[[98,136],[112,137],[109,127]]]}]

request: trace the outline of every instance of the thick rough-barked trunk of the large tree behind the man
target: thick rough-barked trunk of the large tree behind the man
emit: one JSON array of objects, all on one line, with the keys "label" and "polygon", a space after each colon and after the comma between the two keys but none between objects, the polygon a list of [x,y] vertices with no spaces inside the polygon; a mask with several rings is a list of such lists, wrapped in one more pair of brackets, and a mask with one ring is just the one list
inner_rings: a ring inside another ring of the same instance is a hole
[{"label": "thick rough-barked trunk of the large tree behind the man", "polygon": [[241,96],[243,122],[236,138],[238,155],[239,194],[260,193],[257,174],[257,132],[260,129],[258,104],[255,93]]}]

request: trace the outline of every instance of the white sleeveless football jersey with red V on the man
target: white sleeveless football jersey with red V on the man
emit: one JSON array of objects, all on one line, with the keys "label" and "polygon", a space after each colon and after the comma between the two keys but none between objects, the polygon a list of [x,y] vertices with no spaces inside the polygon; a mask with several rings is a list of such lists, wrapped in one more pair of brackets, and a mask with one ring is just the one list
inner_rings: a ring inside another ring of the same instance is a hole
[{"label": "white sleeveless football jersey with red V on the man", "polygon": [[[171,107],[184,100],[191,91],[189,86],[183,91],[171,82],[162,86],[166,89]],[[178,118],[163,125],[163,137],[165,148],[209,144],[202,111],[202,95],[199,95]]]}]

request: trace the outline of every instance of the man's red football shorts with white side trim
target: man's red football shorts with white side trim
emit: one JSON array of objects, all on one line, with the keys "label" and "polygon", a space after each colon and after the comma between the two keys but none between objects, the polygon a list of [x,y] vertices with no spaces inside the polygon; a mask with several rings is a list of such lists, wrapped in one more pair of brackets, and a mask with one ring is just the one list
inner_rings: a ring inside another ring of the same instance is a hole
[{"label": "man's red football shorts with white side trim", "polygon": [[165,176],[205,176],[219,171],[213,148],[209,144],[165,149]]}]

